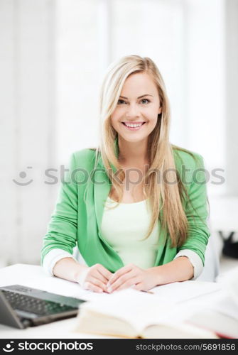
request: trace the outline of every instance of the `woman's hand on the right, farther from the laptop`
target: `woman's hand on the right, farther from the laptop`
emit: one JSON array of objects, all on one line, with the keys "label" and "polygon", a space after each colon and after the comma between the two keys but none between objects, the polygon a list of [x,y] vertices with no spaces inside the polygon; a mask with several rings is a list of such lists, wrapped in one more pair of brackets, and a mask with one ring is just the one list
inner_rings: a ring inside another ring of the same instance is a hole
[{"label": "woman's hand on the right, farther from the laptop", "polygon": [[156,277],[154,268],[144,270],[130,263],[112,275],[109,283],[107,283],[107,290],[109,293],[112,293],[115,290],[132,287],[135,290],[146,291],[155,286]]}]

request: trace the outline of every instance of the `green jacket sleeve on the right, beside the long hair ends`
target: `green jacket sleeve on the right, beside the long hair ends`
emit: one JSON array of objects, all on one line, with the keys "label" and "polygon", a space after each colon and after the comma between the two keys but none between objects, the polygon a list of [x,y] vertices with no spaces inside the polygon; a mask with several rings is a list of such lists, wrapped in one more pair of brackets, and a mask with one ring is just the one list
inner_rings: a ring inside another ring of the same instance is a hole
[{"label": "green jacket sleeve on the right, beside the long hair ends", "polygon": [[190,201],[185,204],[185,214],[188,219],[188,239],[178,251],[190,249],[200,256],[202,265],[205,262],[205,250],[210,237],[207,226],[207,188],[206,174],[201,155],[196,154],[197,163],[190,174],[190,187],[188,197]]}]

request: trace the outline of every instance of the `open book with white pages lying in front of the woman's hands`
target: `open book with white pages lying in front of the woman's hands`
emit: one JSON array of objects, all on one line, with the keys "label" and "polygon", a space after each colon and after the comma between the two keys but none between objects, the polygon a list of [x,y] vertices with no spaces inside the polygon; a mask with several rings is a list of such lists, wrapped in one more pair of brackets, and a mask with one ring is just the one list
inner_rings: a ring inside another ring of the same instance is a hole
[{"label": "open book with white pages lying in front of the woman's hands", "polygon": [[156,295],[126,289],[80,305],[75,332],[112,337],[217,339],[214,332],[173,317],[174,304]]}]

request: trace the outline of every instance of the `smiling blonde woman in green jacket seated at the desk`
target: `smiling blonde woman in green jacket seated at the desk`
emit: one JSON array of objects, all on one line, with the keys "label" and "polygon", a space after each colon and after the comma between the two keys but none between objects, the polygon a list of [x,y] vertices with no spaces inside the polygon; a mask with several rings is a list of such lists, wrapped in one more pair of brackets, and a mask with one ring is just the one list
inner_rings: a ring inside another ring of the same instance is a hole
[{"label": "smiling blonde woman in green jacket seated at the desk", "polygon": [[[61,185],[43,240],[46,271],[107,293],[198,278],[210,236],[204,165],[170,143],[169,126],[153,60],[113,62],[100,95],[100,143],[72,153],[74,179]],[[82,169],[87,184],[75,175]],[[86,266],[72,258],[76,245]]]}]

